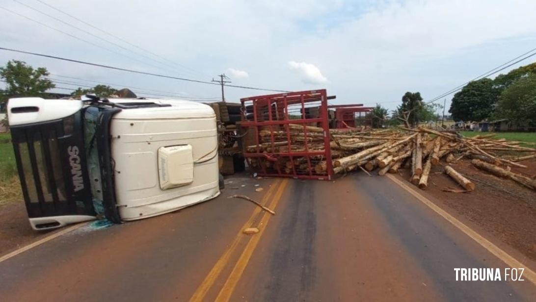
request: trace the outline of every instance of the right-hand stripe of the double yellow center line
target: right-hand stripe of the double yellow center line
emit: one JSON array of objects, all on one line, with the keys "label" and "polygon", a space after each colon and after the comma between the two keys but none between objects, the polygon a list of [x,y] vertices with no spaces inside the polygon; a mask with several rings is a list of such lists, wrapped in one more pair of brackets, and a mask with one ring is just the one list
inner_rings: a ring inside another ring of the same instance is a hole
[{"label": "right-hand stripe of the double yellow center line", "polygon": [[[272,209],[275,209],[277,207],[277,204],[279,200],[281,199],[281,195],[285,191],[285,187],[287,186],[287,183],[288,183],[288,179],[285,179],[282,181],[281,186],[279,186],[277,193],[274,195],[273,201],[270,205]],[[263,235],[264,230],[266,230],[266,226],[268,225],[268,222],[270,221],[271,217],[272,217],[271,214],[265,213],[262,220],[260,220],[259,225],[262,224],[262,228],[260,228],[259,232],[255,236],[251,237],[248,244],[245,246],[244,251],[242,252],[242,255],[240,255],[240,258],[236,262],[236,265],[231,271],[229,277],[227,278],[227,281],[225,282],[224,286],[221,288],[220,293],[218,294],[218,297],[216,298],[216,301],[218,302],[229,301],[236,287],[236,284],[240,281],[240,277],[242,276],[242,273],[244,272],[245,267],[248,265],[249,259],[251,258],[251,255],[255,251],[255,248],[257,247],[257,244],[259,243],[260,237]]]}]

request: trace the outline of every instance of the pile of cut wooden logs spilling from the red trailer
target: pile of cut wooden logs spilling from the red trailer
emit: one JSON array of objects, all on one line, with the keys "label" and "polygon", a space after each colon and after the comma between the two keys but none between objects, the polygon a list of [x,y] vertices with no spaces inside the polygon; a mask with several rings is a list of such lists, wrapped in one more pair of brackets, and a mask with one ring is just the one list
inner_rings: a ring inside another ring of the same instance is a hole
[{"label": "pile of cut wooden logs spilling from the red trailer", "polygon": [[[272,144],[271,137],[274,142]],[[302,125],[288,125],[279,131],[260,131],[259,145],[247,146],[249,152],[301,152],[305,143],[309,150],[324,149],[323,129],[307,126],[307,135]],[[440,132],[426,128],[400,128],[380,131],[330,130],[331,158],[293,157],[268,161],[256,158],[252,164],[280,169],[287,173],[326,173],[326,161],[331,160],[333,172],[344,174],[353,170],[373,171],[378,175],[397,173],[399,169],[411,169],[410,182],[426,189],[430,182],[430,170],[445,166],[446,175],[465,189],[473,191],[475,185],[450,164],[468,160],[474,167],[498,177],[511,179],[536,190],[536,180],[511,171],[512,167],[526,168],[520,161],[536,158],[536,149],[519,146],[519,142],[493,139],[493,135],[477,135],[465,138],[457,133]],[[289,142],[291,144],[289,144]],[[516,156],[508,155],[515,153]],[[254,158],[255,159],[255,158]],[[444,163],[443,163],[444,162]]]}]

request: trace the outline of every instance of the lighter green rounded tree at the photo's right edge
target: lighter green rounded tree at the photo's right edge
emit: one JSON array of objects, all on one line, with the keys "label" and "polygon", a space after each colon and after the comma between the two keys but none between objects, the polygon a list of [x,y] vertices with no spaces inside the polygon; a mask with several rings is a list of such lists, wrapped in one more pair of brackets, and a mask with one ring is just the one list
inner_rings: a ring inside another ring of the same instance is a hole
[{"label": "lighter green rounded tree at the photo's right edge", "polygon": [[536,73],[518,78],[505,88],[495,114],[516,122],[536,122]]}]

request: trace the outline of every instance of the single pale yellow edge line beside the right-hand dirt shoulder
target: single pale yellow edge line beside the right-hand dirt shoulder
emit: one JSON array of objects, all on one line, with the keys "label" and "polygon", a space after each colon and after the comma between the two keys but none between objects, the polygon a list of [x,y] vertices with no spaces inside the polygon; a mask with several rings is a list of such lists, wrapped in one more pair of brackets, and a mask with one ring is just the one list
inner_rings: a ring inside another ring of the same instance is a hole
[{"label": "single pale yellow edge line beside the right-hand dirt shoulder", "polygon": [[456,226],[456,228],[458,228],[460,231],[464,232],[465,235],[471,237],[474,241],[477,241],[478,244],[480,244],[483,248],[486,248],[486,250],[494,254],[498,259],[506,263],[506,265],[508,265],[511,268],[524,268],[525,271],[524,271],[523,276],[525,276],[528,281],[536,285],[536,273],[534,273],[533,270],[524,266],[523,263],[519,262],[518,260],[510,256],[510,254],[508,254],[507,252],[501,250],[500,247],[494,245],[491,241],[482,237],[479,233],[475,232],[473,229],[465,225],[463,222],[457,220],[455,217],[453,217],[449,213],[446,213],[445,210],[438,207],[435,203],[431,202],[426,197],[424,197],[420,193],[413,190],[413,188],[411,188],[410,186],[406,185],[405,183],[401,182],[399,179],[397,179],[396,177],[390,174],[386,174],[386,175],[394,183],[404,188],[407,192],[409,192],[414,197],[419,199],[422,203],[427,205],[430,209],[434,210],[435,213],[439,214],[440,216],[445,218],[447,221],[452,223],[454,226]]}]

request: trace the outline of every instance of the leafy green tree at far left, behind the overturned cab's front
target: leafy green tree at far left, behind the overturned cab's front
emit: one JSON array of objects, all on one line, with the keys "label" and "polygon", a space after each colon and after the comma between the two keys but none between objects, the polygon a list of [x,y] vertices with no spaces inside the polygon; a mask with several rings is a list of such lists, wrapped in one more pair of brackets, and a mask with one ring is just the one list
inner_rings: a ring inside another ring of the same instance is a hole
[{"label": "leafy green tree at far left, behind the overturned cab's front", "polygon": [[[0,94],[0,102],[5,103],[10,97],[43,96],[48,89],[56,87],[48,77],[46,68],[33,69],[23,61],[11,60],[0,67],[0,79],[6,82],[6,88]],[[8,127],[7,115],[2,121]]]}]

